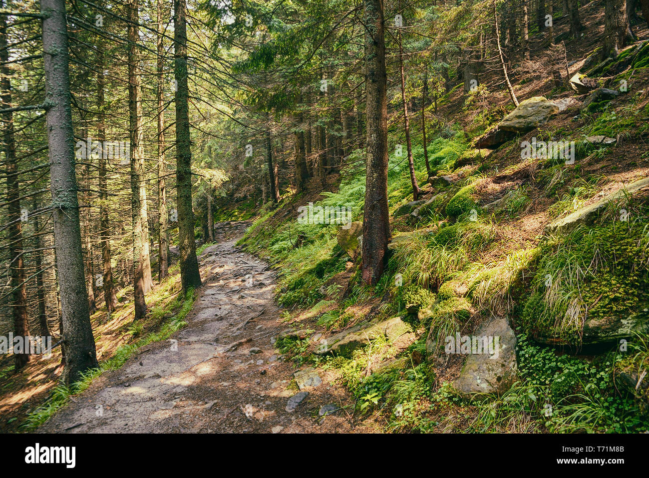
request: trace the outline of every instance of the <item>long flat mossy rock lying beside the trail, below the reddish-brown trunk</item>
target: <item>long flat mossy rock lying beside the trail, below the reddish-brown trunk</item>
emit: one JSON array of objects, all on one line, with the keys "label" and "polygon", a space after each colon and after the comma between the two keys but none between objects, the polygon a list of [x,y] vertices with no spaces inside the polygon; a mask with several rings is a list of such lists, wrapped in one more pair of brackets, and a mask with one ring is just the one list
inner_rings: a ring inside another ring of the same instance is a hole
[{"label": "long flat mossy rock lying beside the trail, below the reddish-brown trunk", "polygon": [[315,350],[315,353],[317,355],[334,353],[349,357],[354,350],[369,344],[369,341],[373,338],[386,336],[393,340],[411,330],[412,327],[402,321],[400,317],[394,317],[378,323],[363,322],[341,333],[321,340],[320,346]]}]

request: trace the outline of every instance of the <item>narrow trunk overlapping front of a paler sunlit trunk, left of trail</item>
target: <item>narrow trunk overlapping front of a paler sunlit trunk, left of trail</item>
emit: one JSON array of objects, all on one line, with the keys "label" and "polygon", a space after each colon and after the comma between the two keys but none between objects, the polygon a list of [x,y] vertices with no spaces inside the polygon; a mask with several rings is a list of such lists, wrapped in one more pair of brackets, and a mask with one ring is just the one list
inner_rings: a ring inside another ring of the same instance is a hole
[{"label": "narrow trunk overlapping front of a paler sunlit trunk, left of trail", "polygon": [[133,290],[135,301],[135,320],[140,320],[147,313],[145,294],[147,284],[144,273],[145,252],[143,248],[149,247],[149,241],[144,241],[142,222],[142,195],[143,181],[143,129],[142,129],[142,103],[140,86],[140,59],[137,42],[140,41],[137,23],[140,19],[138,0],[129,1],[129,131],[130,131],[130,205],[132,222],[132,250],[133,250]]}]

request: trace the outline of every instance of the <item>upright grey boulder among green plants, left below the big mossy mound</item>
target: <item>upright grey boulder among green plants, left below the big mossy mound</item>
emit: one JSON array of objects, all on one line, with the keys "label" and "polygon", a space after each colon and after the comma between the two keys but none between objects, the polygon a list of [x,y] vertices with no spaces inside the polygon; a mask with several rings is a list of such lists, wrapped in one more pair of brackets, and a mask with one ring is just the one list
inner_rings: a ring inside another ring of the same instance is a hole
[{"label": "upright grey boulder among green plants, left below the big mossy mound", "polygon": [[[498,317],[478,327],[475,337],[478,339],[486,337],[491,341],[489,342],[491,346],[487,347],[486,351],[482,347],[473,345],[468,347],[470,355],[458,379],[454,381],[453,388],[465,396],[503,394],[509,390],[516,378],[516,335],[509,327],[508,319]],[[471,344],[473,342],[471,340]],[[465,338],[461,343],[465,344]],[[452,353],[457,351],[464,353],[463,351],[467,350],[461,345],[449,348]]]}]

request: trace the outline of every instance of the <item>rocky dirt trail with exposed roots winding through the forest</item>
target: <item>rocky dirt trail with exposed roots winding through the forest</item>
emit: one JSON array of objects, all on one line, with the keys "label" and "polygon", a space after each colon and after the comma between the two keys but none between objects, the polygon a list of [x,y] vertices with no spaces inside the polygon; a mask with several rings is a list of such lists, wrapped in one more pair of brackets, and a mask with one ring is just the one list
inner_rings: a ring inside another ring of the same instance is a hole
[{"label": "rocky dirt trail with exposed roots winding through the forest", "polygon": [[[247,225],[215,225],[218,244],[199,257],[199,298],[189,324],[173,340],[149,344],[121,369],[104,373],[39,431],[367,431],[352,426],[353,403],[326,373],[321,372],[322,384],[304,389],[309,396],[295,411],[286,410],[297,388],[288,388],[293,364],[278,360],[271,342],[286,329],[273,301],[276,272],[236,247]],[[341,409],[319,417],[320,407],[331,403],[349,413]]]}]

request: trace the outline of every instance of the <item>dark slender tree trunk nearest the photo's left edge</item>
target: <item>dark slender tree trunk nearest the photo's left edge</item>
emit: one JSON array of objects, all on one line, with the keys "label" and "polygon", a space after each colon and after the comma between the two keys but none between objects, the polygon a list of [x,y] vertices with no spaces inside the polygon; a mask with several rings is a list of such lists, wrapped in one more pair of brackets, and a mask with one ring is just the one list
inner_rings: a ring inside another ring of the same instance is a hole
[{"label": "dark slender tree trunk nearest the photo's left edge", "polygon": [[[6,36],[6,16],[0,18],[0,62],[2,71],[2,106],[11,108],[12,72],[8,68],[8,47]],[[67,61],[67,59],[66,59]],[[23,219],[20,209],[20,185],[18,182],[18,160],[16,159],[16,138],[14,137],[14,114],[3,113],[3,130],[6,164],[6,197],[9,223],[9,270],[12,289],[12,315],[14,319],[14,336],[23,337],[27,347],[14,349],[14,371],[23,368],[29,362],[29,323],[27,321],[27,289],[25,288],[25,266],[23,262]],[[76,197],[76,196],[75,196]],[[8,344],[12,347],[13,344]]]}]

